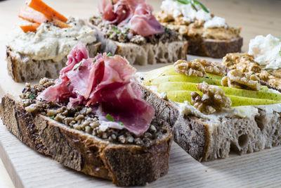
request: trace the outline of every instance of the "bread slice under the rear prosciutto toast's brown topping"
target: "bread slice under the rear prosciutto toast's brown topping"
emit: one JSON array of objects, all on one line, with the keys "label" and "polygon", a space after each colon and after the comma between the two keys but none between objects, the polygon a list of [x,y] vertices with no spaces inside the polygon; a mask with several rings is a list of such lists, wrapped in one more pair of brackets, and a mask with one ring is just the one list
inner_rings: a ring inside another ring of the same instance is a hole
[{"label": "bread slice under the rear prosciutto toast's brown topping", "polygon": [[[95,26],[91,26],[95,27]],[[96,38],[101,42],[101,51],[126,57],[132,65],[148,65],[155,63],[171,63],[178,59],[186,59],[188,42],[159,42],[157,44],[121,43],[104,37],[95,27]]]}]

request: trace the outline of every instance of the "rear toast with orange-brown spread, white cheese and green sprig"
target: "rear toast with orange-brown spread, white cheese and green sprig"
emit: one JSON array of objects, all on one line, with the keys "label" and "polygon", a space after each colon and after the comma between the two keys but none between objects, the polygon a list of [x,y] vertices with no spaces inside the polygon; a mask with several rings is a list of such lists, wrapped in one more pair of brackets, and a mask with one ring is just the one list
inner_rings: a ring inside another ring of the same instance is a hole
[{"label": "rear toast with orange-brown spread, white cheese and green sprig", "polygon": [[224,18],[209,13],[197,0],[164,0],[156,18],[188,40],[188,54],[222,58],[240,52],[240,28],[230,27]]}]

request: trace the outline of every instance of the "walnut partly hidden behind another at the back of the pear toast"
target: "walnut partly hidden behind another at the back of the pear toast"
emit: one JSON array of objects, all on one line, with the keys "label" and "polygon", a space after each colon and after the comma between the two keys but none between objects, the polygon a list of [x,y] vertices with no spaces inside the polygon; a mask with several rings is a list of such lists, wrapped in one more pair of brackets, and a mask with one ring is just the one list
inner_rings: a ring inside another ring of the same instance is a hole
[{"label": "walnut partly hidden behind another at the back of the pear toast", "polygon": [[206,73],[211,73],[214,75],[226,75],[226,69],[220,63],[213,63],[211,61],[207,61],[205,59],[195,59],[193,62],[199,62],[203,65]]}]

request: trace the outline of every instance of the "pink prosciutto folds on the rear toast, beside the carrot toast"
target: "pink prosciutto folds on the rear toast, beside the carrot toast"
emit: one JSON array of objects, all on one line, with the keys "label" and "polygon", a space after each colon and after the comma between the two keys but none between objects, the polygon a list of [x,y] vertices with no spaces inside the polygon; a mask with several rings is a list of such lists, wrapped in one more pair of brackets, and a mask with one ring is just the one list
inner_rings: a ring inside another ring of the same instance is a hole
[{"label": "pink prosciutto folds on the rear toast, beside the carrot toast", "polygon": [[100,15],[107,23],[128,27],[136,35],[147,37],[164,32],[164,27],[152,15],[152,6],[146,0],[102,0]]}]

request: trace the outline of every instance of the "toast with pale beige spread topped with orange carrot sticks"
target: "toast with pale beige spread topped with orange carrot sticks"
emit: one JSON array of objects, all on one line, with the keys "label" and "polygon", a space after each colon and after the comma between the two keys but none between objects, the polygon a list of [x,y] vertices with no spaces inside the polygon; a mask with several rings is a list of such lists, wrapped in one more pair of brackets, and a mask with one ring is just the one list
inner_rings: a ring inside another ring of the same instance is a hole
[{"label": "toast with pale beige spread topped with orange carrot sticks", "polygon": [[65,18],[41,0],[28,0],[20,8],[20,25],[7,44],[8,73],[15,82],[41,77],[57,78],[65,66],[67,54],[79,42],[96,56],[100,43],[84,20]]}]

